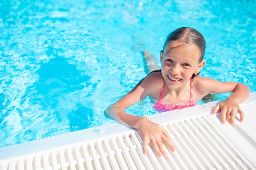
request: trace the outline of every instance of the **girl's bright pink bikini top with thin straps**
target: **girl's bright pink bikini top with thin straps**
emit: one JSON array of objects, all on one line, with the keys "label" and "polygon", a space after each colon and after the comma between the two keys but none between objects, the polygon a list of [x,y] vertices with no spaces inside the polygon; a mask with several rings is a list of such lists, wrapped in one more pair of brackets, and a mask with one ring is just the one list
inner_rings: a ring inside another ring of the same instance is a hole
[{"label": "girl's bright pink bikini top with thin straps", "polygon": [[166,111],[169,111],[169,110],[182,109],[182,108],[195,106],[196,103],[193,101],[193,77],[190,78],[190,100],[187,104],[183,104],[183,105],[167,105],[167,104],[164,104],[162,102],[163,95],[164,95],[164,86],[165,86],[165,83],[162,87],[159,100],[156,103],[153,104],[153,108],[155,108],[155,110],[157,110],[158,112],[166,112]]}]

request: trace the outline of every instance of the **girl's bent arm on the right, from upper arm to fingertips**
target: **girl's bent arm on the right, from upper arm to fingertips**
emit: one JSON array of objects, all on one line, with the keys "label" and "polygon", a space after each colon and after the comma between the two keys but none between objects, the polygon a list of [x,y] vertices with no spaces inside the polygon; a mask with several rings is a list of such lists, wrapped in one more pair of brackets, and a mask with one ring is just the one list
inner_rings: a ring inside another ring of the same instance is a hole
[{"label": "girl's bent arm on the right, from upper arm to fingertips", "polygon": [[250,89],[248,86],[235,82],[219,82],[215,79],[200,78],[201,87],[208,93],[226,93],[233,92],[224,102],[217,104],[213,109],[213,114],[221,110],[221,122],[227,121],[233,125],[236,113],[240,114],[240,122],[244,119],[244,113],[240,109],[239,103],[249,97]]}]

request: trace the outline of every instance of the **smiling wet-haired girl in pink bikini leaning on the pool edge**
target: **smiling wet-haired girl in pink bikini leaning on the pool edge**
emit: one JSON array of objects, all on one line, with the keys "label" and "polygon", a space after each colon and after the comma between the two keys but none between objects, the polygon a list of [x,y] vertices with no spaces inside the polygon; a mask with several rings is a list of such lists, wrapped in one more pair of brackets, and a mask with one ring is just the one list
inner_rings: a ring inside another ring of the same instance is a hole
[{"label": "smiling wet-haired girl in pink bikini leaning on the pool edge", "polygon": [[[153,71],[135,88],[105,110],[106,117],[138,130],[144,144],[143,152],[151,144],[157,155],[167,157],[163,143],[175,150],[168,132],[146,117],[130,115],[124,110],[149,96],[158,111],[191,107],[209,93],[233,92],[224,102],[217,104],[212,113],[221,110],[221,122],[234,124],[236,113],[243,121],[239,103],[249,97],[249,87],[235,82],[219,82],[198,76],[205,64],[203,60],[205,40],[201,33],[189,27],[171,32],[160,51],[161,70]],[[144,52],[144,57],[150,54]],[[152,64],[151,64],[152,65]],[[153,68],[154,69],[154,68]]]}]

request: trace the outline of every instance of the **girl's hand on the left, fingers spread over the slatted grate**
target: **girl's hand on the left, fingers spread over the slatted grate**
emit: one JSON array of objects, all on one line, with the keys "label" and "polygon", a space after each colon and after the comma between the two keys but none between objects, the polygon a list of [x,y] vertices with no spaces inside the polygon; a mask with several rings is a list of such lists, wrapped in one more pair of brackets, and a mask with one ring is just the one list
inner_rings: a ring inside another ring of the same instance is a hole
[{"label": "girl's hand on the left, fingers spread over the slatted grate", "polygon": [[175,148],[170,140],[171,137],[168,135],[167,130],[165,130],[162,126],[160,126],[159,124],[155,124],[154,122],[148,120],[145,117],[141,117],[141,120],[139,120],[138,124],[139,125],[137,130],[139,131],[139,134],[144,141],[144,154],[147,154],[148,144],[151,144],[159,157],[164,155],[164,157],[166,158],[167,154],[166,150],[164,149],[163,142],[167,144],[172,151],[175,151]]}]

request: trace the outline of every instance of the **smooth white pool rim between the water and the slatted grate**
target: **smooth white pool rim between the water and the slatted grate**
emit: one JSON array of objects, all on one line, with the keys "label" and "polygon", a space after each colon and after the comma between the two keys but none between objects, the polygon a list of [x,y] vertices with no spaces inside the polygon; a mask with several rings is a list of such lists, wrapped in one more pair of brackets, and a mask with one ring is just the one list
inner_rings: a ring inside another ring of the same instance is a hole
[{"label": "smooth white pool rim between the water and the slatted grate", "polygon": [[[148,116],[148,118],[158,124],[165,125],[170,122],[177,122],[181,120],[183,121],[193,117],[199,117],[201,115],[210,115],[217,102],[210,102],[191,108],[184,108],[182,110],[172,110],[165,113],[159,113],[156,115]],[[247,105],[256,106],[256,92],[251,93],[249,99],[240,104],[241,107],[245,107]],[[215,123],[220,124],[220,122]],[[227,127],[230,128],[228,125]],[[89,128],[63,135],[57,135],[46,139],[39,139],[13,146],[2,147],[0,148],[0,164],[10,162],[12,160],[24,159],[25,157],[30,157],[31,155],[35,155],[38,152],[59,150],[63,147],[74,146],[84,142],[97,141],[98,138],[102,139],[111,137],[113,135],[117,136],[134,132],[136,132],[136,130],[130,129],[127,126],[119,123],[113,123],[96,128]],[[243,149],[243,146],[241,146],[240,149]]]}]

